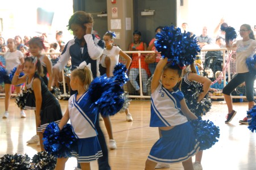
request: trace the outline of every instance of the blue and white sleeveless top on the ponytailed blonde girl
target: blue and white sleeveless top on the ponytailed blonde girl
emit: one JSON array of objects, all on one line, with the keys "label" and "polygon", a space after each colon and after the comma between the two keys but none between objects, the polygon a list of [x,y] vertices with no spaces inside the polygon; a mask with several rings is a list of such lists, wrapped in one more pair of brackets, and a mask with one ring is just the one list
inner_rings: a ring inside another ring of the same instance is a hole
[{"label": "blue and white sleeveless top on the ponytailed blonde girl", "polygon": [[72,95],[68,100],[68,111],[73,133],[76,138],[90,138],[96,137],[97,131],[95,128],[97,114],[93,112],[92,104],[86,91],[77,101],[76,96]]}]

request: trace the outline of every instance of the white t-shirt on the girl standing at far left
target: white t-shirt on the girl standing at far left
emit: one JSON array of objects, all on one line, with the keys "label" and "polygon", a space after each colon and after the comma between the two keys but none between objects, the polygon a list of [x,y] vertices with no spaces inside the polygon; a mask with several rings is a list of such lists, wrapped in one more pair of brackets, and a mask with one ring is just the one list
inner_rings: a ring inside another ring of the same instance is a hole
[{"label": "white t-shirt on the girl standing at far left", "polygon": [[9,74],[14,67],[20,64],[20,59],[24,58],[24,55],[20,50],[15,50],[15,52],[7,52],[5,53],[5,61],[6,61],[6,71]]}]

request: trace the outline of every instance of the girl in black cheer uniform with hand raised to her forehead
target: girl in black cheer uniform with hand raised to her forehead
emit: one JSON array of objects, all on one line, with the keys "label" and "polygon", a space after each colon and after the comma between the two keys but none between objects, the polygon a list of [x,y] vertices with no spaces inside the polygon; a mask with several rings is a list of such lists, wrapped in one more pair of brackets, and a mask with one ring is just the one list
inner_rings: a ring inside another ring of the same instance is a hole
[{"label": "girl in black cheer uniform with hand raised to her forehead", "polygon": [[[50,122],[59,124],[62,113],[59,101],[44,84],[40,60],[37,57],[27,57],[24,60],[24,64],[17,67],[12,83],[14,85],[26,83],[25,90],[29,91],[30,94],[27,97],[25,108],[35,110],[36,128],[39,134],[41,150],[44,151],[43,131]],[[25,75],[19,78],[18,75],[23,70]]]}]

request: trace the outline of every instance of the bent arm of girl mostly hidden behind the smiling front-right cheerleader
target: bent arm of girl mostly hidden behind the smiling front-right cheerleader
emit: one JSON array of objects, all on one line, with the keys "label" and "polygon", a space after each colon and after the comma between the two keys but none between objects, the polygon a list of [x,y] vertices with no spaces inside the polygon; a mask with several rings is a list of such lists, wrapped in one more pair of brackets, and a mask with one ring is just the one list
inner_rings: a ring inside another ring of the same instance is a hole
[{"label": "bent arm of girl mostly hidden behind the smiling front-right cheerleader", "polygon": [[188,80],[191,82],[195,81],[195,82],[199,82],[199,83],[203,84],[203,92],[201,92],[197,101],[201,101],[202,99],[204,99],[204,96],[209,91],[210,83],[212,83],[212,81],[210,79],[208,79],[207,77],[198,75],[196,73],[189,73]]}]

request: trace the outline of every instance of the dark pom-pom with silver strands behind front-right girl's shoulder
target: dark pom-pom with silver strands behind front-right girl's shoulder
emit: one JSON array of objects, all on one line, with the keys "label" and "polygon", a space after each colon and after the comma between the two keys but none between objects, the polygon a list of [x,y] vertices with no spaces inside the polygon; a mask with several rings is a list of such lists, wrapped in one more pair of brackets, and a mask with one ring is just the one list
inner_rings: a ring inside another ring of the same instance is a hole
[{"label": "dark pom-pom with silver strands behind front-right girl's shoulder", "polygon": [[203,92],[203,84],[198,82],[191,82],[188,88],[183,90],[184,98],[189,110],[197,117],[204,116],[212,107],[212,101],[208,94],[197,103],[197,99],[201,92]]}]

